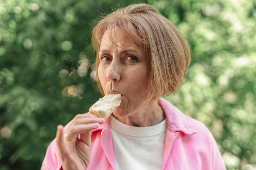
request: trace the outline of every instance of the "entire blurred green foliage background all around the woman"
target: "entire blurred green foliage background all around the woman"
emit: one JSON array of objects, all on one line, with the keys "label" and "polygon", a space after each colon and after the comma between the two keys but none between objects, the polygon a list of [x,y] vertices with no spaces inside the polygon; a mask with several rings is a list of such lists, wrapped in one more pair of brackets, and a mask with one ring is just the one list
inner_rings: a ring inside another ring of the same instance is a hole
[{"label": "entire blurred green foliage background all around the woman", "polygon": [[0,0],[1,170],[40,169],[57,125],[101,97],[91,29],[140,2],[191,46],[186,82],[165,98],[208,126],[227,169],[256,168],[255,0]]}]

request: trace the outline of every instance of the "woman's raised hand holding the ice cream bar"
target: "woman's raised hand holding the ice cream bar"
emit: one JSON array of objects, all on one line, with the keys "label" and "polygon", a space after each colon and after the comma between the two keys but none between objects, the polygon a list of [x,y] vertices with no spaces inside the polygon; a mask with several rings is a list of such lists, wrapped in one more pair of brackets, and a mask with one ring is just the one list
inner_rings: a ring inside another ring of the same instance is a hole
[{"label": "woman's raised hand holding the ice cream bar", "polygon": [[[58,125],[56,142],[63,170],[84,170],[91,158],[91,132],[104,121],[92,114],[79,114],[71,120],[67,130]],[[79,139],[77,136],[81,134]]]}]

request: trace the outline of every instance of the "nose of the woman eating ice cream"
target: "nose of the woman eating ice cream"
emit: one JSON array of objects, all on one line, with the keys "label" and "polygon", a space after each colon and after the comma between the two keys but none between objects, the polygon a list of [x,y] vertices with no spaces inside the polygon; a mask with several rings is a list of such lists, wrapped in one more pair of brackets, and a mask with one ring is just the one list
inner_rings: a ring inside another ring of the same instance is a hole
[{"label": "nose of the woman eating ice cream", "polygon": [[120,64],[116,60],[112,60],[109,70],[107,72],[107,78],[109,81],[117,82],[120,81]]}]

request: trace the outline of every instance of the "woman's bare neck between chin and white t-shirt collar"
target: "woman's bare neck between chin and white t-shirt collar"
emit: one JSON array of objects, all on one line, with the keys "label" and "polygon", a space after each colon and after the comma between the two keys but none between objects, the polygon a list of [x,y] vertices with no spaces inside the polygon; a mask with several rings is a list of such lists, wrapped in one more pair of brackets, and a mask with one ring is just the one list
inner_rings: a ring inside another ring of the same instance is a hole
[{"label": "woman's bare neck between chin and white t-shirt collar", "polygon": [[130,126],[153,126],[163,121],[166,116],[156,100],[152,104],[142,107],[131,116],[114,117],[120,122]]}]

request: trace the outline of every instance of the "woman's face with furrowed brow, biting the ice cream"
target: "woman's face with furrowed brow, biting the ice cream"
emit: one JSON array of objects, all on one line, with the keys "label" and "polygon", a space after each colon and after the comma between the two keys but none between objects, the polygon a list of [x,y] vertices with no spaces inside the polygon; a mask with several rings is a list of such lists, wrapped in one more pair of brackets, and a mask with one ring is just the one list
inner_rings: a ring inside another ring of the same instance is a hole
[{"label": "woman's face with furrowed brow, biting the ice cream", "polygon": [[121,104],[115,116],[128,117],[144,106],[148,89],[147,59],[143,50],[126,35],[115,28],[110,39],[106,31],[99,50],[98,77],[104,94],[120,93]]}]

